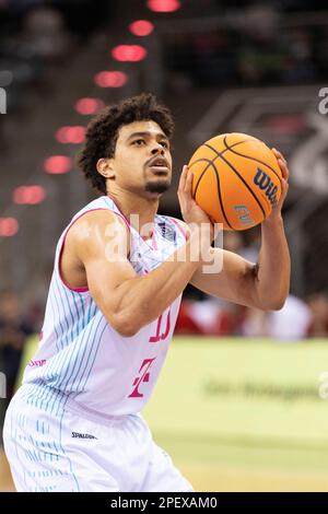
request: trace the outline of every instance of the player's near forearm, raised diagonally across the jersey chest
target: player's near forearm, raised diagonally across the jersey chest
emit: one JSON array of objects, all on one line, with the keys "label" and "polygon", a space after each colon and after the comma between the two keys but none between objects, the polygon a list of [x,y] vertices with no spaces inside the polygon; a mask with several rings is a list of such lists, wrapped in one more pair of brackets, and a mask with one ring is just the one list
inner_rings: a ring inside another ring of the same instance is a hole
[{"label": "player's near forearm, raised diagonally across the jersey chest", "polygon": [[208,255],[210,238],[194,229],[186,245],[145,277],[127,280],[118,288],[117,316],[129,323],[128,331],[138,331],[156,319],[184,291]]}]

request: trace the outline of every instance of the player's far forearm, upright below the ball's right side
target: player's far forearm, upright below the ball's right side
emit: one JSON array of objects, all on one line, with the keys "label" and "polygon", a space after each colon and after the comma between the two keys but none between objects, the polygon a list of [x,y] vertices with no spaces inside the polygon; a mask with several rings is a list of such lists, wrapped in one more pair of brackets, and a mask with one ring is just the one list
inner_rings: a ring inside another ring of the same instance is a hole
[{"label": "player's far forearm, upright below the ball's right side", "polygon": [[268,311],[279,309],[289,294],[291,274],[289,246],[281,217],[261,225],[258,265],[255,279],[257,306]]}]

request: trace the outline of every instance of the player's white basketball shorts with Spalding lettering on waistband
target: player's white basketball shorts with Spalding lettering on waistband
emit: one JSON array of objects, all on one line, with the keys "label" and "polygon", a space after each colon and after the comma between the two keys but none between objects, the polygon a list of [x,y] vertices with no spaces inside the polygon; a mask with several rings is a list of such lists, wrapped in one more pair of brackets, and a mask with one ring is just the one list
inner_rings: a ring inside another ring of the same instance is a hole
[{"label": "player's white basketball shorts with Spalding lettering on waistband", "polygon": [[70,402],[60,416],[26,404],[21,387],[3,439],[17,491],[191,492],[141,414],[85,416]]}]

